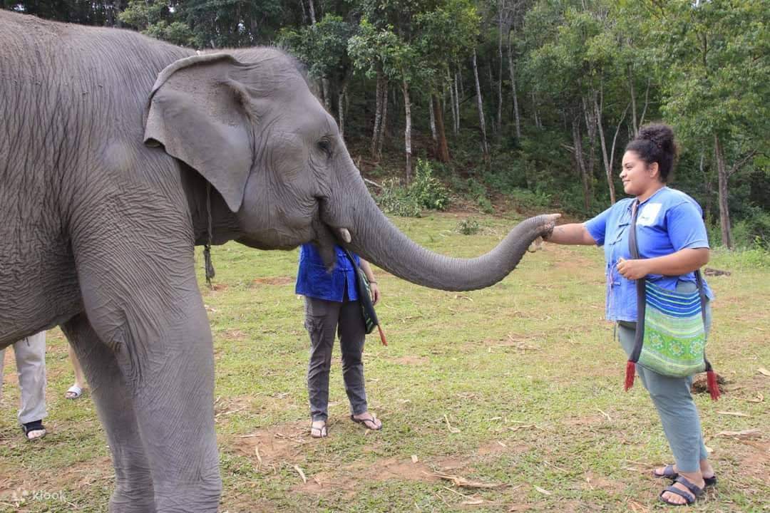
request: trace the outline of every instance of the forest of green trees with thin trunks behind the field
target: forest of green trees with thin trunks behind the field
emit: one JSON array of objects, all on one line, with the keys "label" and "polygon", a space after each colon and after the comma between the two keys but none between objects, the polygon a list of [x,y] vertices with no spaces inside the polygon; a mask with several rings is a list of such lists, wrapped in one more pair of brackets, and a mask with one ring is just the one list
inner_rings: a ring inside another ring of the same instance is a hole
[{"label": "forest of green trees with thin trunks behind the field", "polygon": [[[624,145],[668,122],[671,185],[712,245],[770,251],[764,0],[0,0],[190,48],[306,65],[380,206],[587,218],[623,197]],[[465,228],[472,229],[472,226]]]}]

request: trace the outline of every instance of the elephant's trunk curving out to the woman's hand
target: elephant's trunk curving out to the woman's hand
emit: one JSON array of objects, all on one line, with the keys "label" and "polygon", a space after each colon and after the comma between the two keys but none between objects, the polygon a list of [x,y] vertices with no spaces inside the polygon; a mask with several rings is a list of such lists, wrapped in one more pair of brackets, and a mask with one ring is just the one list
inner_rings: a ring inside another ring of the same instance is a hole
[{"label": "elephant's trunk curving out to the woman's hand", "polygon": [[[553,230],[558,217],[538,215],[526,219],[486,255],[448,258],[428,251],[400,232],[377,207],[360,175],[356,175],[352,182],[357,183],[345,188],[344,198],[334,198],[349,208],[342,216],[350,222],[349,226],[333,223],[336,228],[350,229],[350,243],[344,245],[393,275],[430,288],[466,291],[494,285],[514,270],[538,236]],[[350,198],[357,198],[357,204],[350,205]]]}]

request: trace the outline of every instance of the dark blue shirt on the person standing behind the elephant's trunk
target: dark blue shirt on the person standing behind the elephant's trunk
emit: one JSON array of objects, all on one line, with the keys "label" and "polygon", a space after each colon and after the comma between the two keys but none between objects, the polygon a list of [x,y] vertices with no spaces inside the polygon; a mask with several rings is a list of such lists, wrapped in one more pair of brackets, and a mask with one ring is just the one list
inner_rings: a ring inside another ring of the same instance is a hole
[{"label": "dark blue shirt on the person standing behind the elephant's trunk", "polygon": [[[350,258],[347,258],[345,250],[340,246],[334,246],[337,261],[331,272],[326,271],[326,265],[315,245],[303,244],[300,246],[300,268],[296,273],[296,294],[306,295],[310,298],[326,299],[326,301],[343,302],[356,301],[356,271]],[[360,258],[353,254],[357,265]]]}]

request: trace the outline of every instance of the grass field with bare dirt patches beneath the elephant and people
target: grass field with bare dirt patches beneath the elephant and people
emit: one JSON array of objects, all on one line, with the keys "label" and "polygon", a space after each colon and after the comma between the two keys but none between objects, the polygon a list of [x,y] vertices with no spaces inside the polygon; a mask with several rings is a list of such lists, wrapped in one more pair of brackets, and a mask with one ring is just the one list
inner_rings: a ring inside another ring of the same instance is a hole
[{"label": "grass field with bare dirt patches beneath the elephant and people", "polygon": [[[461,235],[466,217],[394,221],[420,244],[464,257],[513,225],[476,215],[480,232]],[[625,358],[603,320],[598,249],[545,245],[494,287],[464,293],[375,269],[390,345],[370,335],[364,358],[384,428],[349,420],[337,347],[322,441],[308,434],[296,252],[229,244],[213,257],[216,288],[201,289],[215,341],[220,511],[665,509],[649,471],[671,455],[641,385],[622,391]],[[715,252],[709,264],[731,271],[709,278],[709,355],[728,384],[718,403],[696,396],[720,481],[694,511],[770,511],[770,377],[759,371],[770,368],[770,266],[746,260]],[[109,448],[88,392],[63,397],[72,369],[61,332],[49,332],[49,435],[35,443],[16,424],[12,352],[0,399],[0,511],[106,511]],[[758,435],[720,435],[749,429]],[[23,490],[43,493],[21,501]]]}]

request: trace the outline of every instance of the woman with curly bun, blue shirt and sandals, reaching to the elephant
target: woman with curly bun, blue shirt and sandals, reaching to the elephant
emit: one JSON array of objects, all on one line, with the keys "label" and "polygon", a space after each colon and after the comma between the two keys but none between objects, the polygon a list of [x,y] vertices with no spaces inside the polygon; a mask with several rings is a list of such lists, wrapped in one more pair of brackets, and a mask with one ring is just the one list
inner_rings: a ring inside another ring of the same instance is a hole
[{"label": "woman with curly bun, blue shirt and sandals, reaching to the elephant", "polygon": [[[547,238],[556,244],[604,246],[607,318],[618,323],[621,345],[634,348],[637,322],[636,280],[647,279],[668,290],[695,291],[695,273],[708,262],[708,238],[701,207],[684,192],[666,186],[677,148],[667,125],[648,125],[626,146],[621,179],[626,198],[584,223],[561,225]],[[631,208],[638,202],[637,244],[642,258],[631,258],[628,233]],[[708,299],[713,298],[705,285]],[[706,305],[706,329],[711,309]],[[658,478],[674,484],[661,492],[671,505],[691,504],[707,485],[715,485],[698,410],[690,394],[692,377],[670,378],[637,365],[650,393],[676,463],[657,468]]]}]

